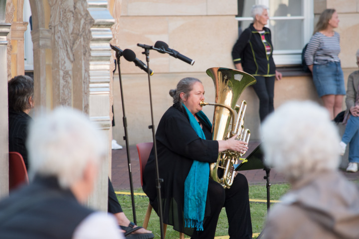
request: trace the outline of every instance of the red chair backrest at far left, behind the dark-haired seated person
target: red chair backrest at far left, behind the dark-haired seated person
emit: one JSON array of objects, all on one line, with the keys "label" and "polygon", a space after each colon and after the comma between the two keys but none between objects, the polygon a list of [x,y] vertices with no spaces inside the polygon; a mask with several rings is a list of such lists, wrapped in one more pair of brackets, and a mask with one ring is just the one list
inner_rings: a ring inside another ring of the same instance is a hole
[{"label": "red chair backrest at far left, behind the dark-haired seated person", "polygon": [[27,170],[21,154],[9,152],[9,191],[28,184]]}]

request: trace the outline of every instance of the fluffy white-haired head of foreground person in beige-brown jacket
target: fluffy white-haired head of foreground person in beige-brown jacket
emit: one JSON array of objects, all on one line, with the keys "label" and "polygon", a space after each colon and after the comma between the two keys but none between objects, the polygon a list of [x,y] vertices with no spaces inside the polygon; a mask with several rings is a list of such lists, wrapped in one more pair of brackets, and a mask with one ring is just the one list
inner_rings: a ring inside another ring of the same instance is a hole
[{"label": "fluffy white-haired head of foreground person in beige-brown jacket", "polygon": [[314,102],[283,104],[263,122],[262,136],[265,163],[292,183],[338,168],[338,129],[328,111]]}]

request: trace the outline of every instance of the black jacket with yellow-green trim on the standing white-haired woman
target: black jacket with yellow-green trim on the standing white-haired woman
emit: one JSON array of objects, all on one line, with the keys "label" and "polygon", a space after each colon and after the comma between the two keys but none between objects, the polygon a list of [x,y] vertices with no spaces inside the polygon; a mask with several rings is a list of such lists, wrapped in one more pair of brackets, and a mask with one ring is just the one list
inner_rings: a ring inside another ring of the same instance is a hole
[{"label": "black jacket with yellow-green trim on the standing white-haired woman", "polygon": [[262,42],[260,33],[253,27],[253,23],[246,28],[239,36],[232,49],[234,64],[241,63],[243,71],[252,76],[275,76],[276,66],[273,60],[273,45],[271,31],[263,27],[264,37],[272,48],[270,55],[267,55],[265,45]]}]

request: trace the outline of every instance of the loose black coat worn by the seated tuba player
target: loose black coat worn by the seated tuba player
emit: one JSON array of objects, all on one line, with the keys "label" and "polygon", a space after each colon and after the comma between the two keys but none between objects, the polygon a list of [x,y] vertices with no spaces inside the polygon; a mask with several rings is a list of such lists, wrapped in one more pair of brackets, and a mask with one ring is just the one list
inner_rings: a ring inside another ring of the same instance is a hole
[{"label": "loose black coat worn by the seated tuba player", "polygon": [[[164,223],[187,235],[191,235],[193,229],[183,228],[184,181],[194,159],[213,163],[218,157],[218,141],[211,140],[211,128],[201,123],[207,140],[196,134],[184,109],[175,104],[164,114],[156,132],[159,174],[164,179],[161,184]],[[143,173],[143,190],[158,213],[153,149]],[[209,200],[207,196],[205,216]]]}]

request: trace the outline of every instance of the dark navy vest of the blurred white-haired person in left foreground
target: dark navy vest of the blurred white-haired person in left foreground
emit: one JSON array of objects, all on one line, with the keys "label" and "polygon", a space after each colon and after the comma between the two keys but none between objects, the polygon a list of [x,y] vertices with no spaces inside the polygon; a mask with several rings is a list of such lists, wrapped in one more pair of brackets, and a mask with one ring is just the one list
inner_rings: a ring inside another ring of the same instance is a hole
[{"label": "dark navy vest of the blurred white-haired person in left foreground", "polygon": [[56,178],[37,176],[0,201],[0,238],[71,239],[93,212],[60,188]]}]

